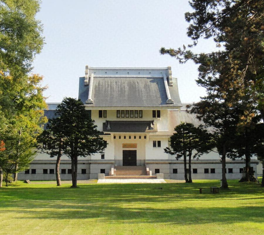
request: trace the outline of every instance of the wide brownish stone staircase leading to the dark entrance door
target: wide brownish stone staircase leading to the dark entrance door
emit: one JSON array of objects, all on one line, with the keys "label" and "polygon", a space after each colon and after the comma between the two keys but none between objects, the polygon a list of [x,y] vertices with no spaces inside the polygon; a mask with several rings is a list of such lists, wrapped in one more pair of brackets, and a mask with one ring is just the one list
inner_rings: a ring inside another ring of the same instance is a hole
[{"label": "wide brownish stone staircase leading to the dark entrance door", "polygon": [[105,179],[156,179],[156,176],[147,175],[147,168],[141,166],[116,166],[114,175]]}]

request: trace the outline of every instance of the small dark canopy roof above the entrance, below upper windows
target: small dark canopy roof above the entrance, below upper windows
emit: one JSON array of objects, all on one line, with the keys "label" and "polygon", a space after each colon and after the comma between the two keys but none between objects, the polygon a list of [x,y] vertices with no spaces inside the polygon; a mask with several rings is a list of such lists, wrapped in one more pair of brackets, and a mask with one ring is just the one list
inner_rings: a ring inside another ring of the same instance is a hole
[{"label": "small dark canopy roof above the entrance, below upper windows", "polygon": [[[107,129],[110,122],[110,129]],[[107,121],[103,123],[103,132],[156,132],[157,123],[150,127],[151,121]]]}]

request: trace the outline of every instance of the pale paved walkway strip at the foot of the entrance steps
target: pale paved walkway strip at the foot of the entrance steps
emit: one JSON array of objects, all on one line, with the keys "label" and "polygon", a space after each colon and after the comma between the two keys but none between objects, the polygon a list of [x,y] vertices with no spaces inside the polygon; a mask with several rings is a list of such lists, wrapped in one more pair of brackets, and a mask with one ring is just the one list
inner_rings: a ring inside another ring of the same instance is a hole
[{"label": "pale paved walkway strip at the foot of the entrance steps", "polygon": [[166,183],[164,179],[98,179],[97,184],[155,184],[155,183]]}]

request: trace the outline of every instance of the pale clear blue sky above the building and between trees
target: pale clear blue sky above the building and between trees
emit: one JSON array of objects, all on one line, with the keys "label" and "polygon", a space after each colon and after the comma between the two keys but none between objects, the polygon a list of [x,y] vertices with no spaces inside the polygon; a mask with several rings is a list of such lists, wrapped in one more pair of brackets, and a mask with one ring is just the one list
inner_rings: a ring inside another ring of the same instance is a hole
[{"label": "pale clear blue sky above the building and between trees", "polygon": [[[159,49],[187,46],[192,11],[187,0],[88,1],[43,0],[37,18],[44,27],[45,45],[33,63],[44,76],[47,102],[77,97],[79,77],[91,67],[167,67],[178,78],[183,103],[196,102],[205,90],[198,87],[197,65],[179,64]],[[199,41],[196,52],[215,50],[215,43]]]}]

